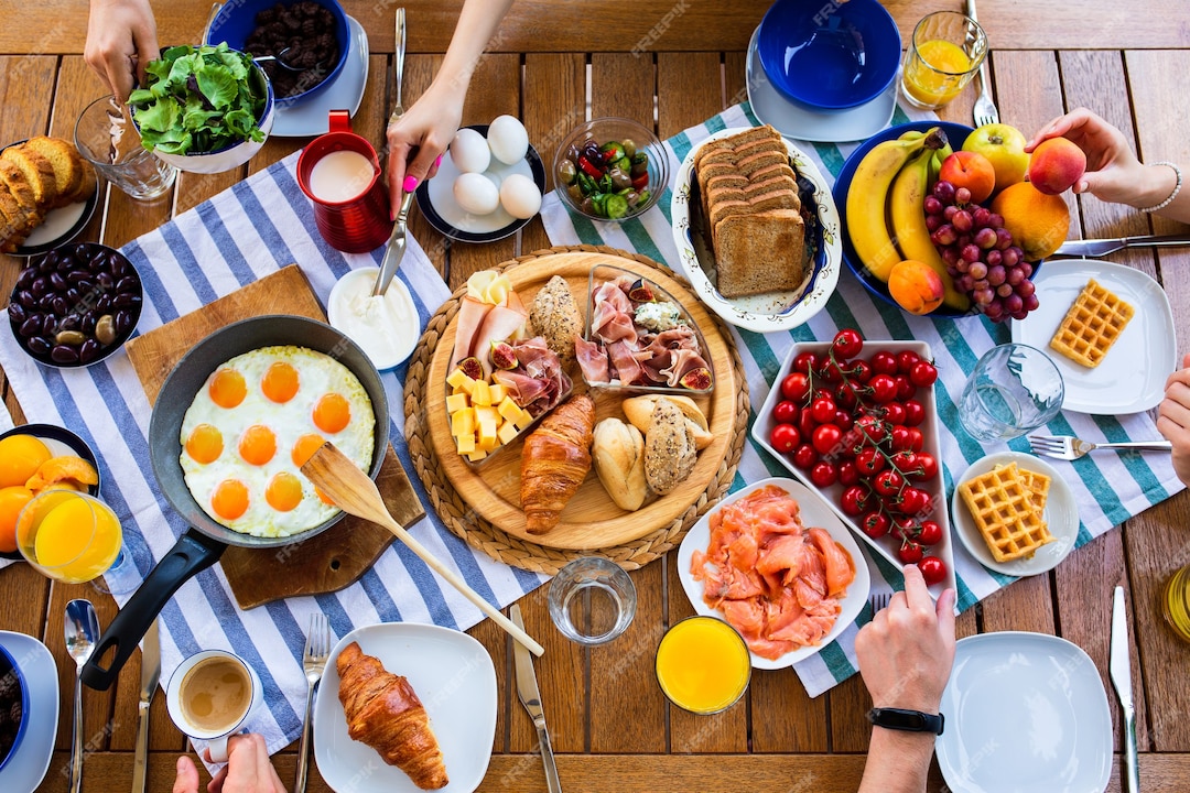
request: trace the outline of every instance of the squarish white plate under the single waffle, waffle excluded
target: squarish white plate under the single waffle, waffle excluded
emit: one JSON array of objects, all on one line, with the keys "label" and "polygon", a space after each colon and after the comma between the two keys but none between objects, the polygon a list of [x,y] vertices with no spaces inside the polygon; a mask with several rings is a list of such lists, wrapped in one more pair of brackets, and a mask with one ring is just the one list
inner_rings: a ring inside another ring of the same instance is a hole
[{"label": "squarish white plate under the single waffle, waffle excluded", "polygon": [[[1098,366],[1077,364],[1050,346],[1075,300],[1094,278],[1135,309]],[[1173,311],[1160,284],[1140,270],[1110,262],[1046,262],[1033,282],[1040,306],[1013,322],[1013,341],[1042,351],[1066,386],[1064,410],[1097,415],[1140,413],[1165,396],[1165,378],[1178,367]]]}]

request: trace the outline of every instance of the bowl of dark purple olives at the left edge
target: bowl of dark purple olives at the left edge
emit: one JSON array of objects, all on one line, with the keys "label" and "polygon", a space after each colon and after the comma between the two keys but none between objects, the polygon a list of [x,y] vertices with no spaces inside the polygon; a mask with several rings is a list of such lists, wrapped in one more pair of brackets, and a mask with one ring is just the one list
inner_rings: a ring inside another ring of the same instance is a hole
[{"label": "bowl of dark purple olives at the left edge", "polygon": [[8,298],[17,342],[39,364],[89,366],[129,340],[144,303],[136,268],[115,248],[77,243],[33,257]]}]

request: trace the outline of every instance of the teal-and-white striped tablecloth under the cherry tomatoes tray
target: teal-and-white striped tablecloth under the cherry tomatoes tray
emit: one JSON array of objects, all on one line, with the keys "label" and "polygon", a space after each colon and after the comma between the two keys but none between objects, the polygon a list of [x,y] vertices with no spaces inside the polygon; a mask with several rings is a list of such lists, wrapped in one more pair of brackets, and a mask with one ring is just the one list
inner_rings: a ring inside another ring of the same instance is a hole
[{"label": "teal-and-white striped tablecloth under the cherry tomatoes tray", "polygon": [[[898,107],[892,124],[909,120],[934,119],[931,113],[921,113]],[[720,130],[757,126],[759,121],[747,103],[737,105],[704,124],[691,127],[665,141],[670,156],[670,174],[676,175],[682,159],[691,146]],[[815,144],[795,140],[806,152],[827,182],[834,184],[844,162],[859,144]],[[681,272],[677,247],[670,228],[670,188],[666,188],[657,206],[640,218],[620,224],[591,222],[571,214],[551,194],[543,202],[541,218],[550,241],[555,245],[612,245],[649,256]],[[929,344],[938,363],[939,380],[935,397],[941,429],[942,474],[947,496],[953,493],[954,477],[966,467],[994,451],[1002,451],[1003,443],[981,446],[962,430],[951,427],[958,423],[956,401],[962,394],[966,373],[991,347],[1009,341],[1007,325],[994,325],[987,320],[967,319],[956,322],[950,319],[910,316],[888,303],[875,300],[846,270],[839,277],[838,291],[831,297],[826,310],[820,311],[807,325],[789,332],[753,333],[733,328],[732,335],[744,361],[752,399],[751,418],[764,403],[769,388],[778,376],[781,363],[790,346],[798,341],[829,340],[839,328],[858,328],[866,339],[917,339]],[[751,420],[750,420],[751,421]],[[1048,424],[1056,435],[1077,435],[1091,441],[1159,438],[1157,427],[1147,414],[1130,416],[1089,416],[1063,413]],[[1023,438],[1010,441],[1008,448],[1028,451]],[[1086,457],[1073,464],[1054,460],[1053,464],[1065,476],[1078,502],[1082,525],[1077,546],[1125,520],[1148,509],[1182,490],[1183,485],[1173,473],[1167,455],[1102,454]],[[788,471],[760,449],[749,436],[740,460],[739,476],[733,490],[765,477],[789,476]],[[996,590],[1008,586],[1013,579],[994,573],[979,565],[966,548],[953,542],[954,567],[958,578],[958,609],[965,610]],[[901,573],[881,559],[871,560],[873,589],[901,586]],[[864,610],[864,618],[868,610]],[[854,637],[858,628],[852,625],[840,638],[814,657],[796,665],[798,676],[812,697],[833,687],[856,673]]]}]

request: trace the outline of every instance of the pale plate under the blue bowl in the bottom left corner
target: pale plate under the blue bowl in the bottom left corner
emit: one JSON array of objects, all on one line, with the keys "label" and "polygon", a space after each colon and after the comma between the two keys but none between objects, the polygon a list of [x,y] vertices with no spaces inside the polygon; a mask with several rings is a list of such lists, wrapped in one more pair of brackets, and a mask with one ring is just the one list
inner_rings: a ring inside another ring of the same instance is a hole
[{"label": "pale plate under the blue bowl in the bottom left corner", "polygon": [[0,644],[17,660],[29,686],[29,726],[17,754],[0,770],[0,791],[33,791],[50,767],[58,731],[58,673],[45,644],[0,630]]}]

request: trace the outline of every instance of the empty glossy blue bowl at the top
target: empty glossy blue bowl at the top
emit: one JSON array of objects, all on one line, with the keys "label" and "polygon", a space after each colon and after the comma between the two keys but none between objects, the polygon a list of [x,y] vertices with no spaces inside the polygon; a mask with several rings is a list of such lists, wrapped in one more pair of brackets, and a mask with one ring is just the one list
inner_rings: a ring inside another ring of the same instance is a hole
[{"label": "empty glossy blue bowl at the top", "polygon": [[841,111],[870,102],[896,78],[901,32],[876,0],[777,0],[757,52],[787,99]]}]

